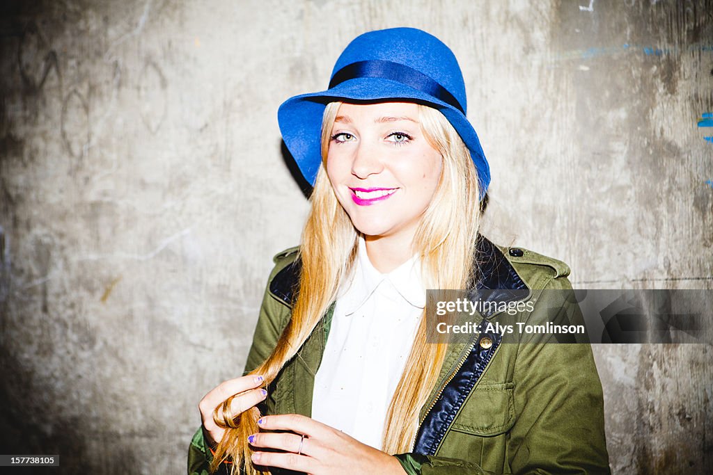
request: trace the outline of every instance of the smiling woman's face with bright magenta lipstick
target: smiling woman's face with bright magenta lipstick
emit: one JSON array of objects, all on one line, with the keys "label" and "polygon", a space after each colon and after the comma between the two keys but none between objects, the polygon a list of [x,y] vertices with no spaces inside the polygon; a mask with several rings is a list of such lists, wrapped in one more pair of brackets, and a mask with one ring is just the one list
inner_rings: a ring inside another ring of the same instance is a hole
[{"label": "smiling woman's face with bright magenta lipstick", "polygon": [[436,191],[442,157],[414,103],[347,104],[334,120],[327,175],[356,229],[404,245]]}]

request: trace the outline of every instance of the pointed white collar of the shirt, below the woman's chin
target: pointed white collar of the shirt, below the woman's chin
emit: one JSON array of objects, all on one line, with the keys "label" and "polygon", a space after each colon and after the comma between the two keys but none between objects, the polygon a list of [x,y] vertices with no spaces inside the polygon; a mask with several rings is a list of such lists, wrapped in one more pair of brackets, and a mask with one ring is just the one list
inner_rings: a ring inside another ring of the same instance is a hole
[{"label": "pointed white collar of the shirt, below the woman's chin", "polygon": [[342,286],[338,298],[341,299],[345,313],[356,312],[381,285],[394,287],[401,298],[416,308],[426,306],[426,289],[421,280],[421,259],[413,256],[389,273],[379,272],[366,254],[366,241],[359,236],[359,250],[352,276]]}]

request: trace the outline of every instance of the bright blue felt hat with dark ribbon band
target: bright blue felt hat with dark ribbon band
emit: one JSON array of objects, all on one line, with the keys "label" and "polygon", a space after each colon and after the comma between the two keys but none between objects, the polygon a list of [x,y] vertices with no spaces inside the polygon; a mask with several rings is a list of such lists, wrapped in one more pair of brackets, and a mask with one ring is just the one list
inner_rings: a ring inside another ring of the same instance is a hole
[{"label": "bright blue felt hat with dark ribbon band", "polygon": [[481,198],[490,168],[466,118],[466,85],[456,56],[441,40],[416,28],[369,31],[354,38],[334,65],[329,89],[289,98],[277,111],[279,130],[307,182],[322,162],[322,115],[327,103],[380,99],[424,103],[458,131],[478,170]]}]

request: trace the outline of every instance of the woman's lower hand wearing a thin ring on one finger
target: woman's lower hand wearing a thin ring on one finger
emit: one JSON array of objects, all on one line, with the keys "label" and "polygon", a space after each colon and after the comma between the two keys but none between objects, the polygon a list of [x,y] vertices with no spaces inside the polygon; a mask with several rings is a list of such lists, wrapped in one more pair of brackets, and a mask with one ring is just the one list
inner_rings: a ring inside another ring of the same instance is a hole
[{"label": "woman's lower hand wearing a thin ring on one finger", "polygon": [[[394,456],[362,444],[344,432],[299,414],[263,416],[257,424],[268,431],[248,437],[252,462],[261,466],[304,471],[307,474],[394,474],[404,469]],[[302,437],[304,434],[304,437]],[[284,451],[260,451],[259,449]]]}]

